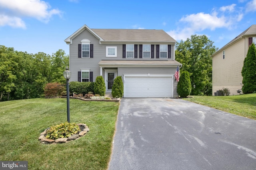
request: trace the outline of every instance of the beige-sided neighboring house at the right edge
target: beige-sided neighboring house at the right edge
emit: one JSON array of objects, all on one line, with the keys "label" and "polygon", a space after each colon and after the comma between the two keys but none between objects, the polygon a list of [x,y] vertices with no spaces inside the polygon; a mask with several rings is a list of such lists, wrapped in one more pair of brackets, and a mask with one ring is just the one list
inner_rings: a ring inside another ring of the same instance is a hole
[{"label": "beige-sided neighboring house at the right edge", "polygon": [[212,55],[212,95],[222,88],[230,89],[230,95],[239,94],[244,58],[252,43],[256,44],[256,25],[250,26]]}]

